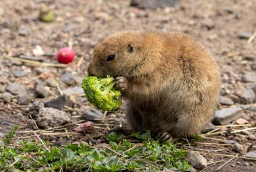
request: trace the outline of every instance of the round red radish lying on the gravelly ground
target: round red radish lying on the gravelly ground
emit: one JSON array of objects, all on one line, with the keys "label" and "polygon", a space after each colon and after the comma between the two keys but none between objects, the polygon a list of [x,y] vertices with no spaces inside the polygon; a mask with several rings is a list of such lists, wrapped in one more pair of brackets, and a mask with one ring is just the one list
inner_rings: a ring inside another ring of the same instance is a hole
[{"label": "round red radish lying on the gravelly ground", "polygon": [[75,52],[69,47],[61,48],[57,54],[57,58],[59,62],[67,64],[73,61],[75,58]]}]

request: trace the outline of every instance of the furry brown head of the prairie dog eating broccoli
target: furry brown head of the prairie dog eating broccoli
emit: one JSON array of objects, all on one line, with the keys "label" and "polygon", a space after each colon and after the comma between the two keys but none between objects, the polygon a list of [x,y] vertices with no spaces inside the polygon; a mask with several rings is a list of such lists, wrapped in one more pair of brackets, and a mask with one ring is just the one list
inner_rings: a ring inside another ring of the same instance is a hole
[{"label": "furry brown head of the prairie dog eating broccoli", "polygon": [[[96,77],[142,77],[154,70],[159,53],[152,51],[154,39],[148,42],[146,32],[117,32],[94,47],[88,74]],[[153,54],[152,54],[153,53]]]}]

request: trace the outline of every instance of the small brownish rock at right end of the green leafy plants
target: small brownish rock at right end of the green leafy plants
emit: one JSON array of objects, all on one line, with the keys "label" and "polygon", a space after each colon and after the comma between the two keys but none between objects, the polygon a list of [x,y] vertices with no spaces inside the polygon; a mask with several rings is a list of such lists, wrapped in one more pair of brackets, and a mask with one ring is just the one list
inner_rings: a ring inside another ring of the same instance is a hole
[{"label": "small brownish rock at right end of the green leafy plants", "polygon": [[207,160],[198,152],[192,151],[185,157],[187,162],[196,169],[204,169],[207,167]]}]

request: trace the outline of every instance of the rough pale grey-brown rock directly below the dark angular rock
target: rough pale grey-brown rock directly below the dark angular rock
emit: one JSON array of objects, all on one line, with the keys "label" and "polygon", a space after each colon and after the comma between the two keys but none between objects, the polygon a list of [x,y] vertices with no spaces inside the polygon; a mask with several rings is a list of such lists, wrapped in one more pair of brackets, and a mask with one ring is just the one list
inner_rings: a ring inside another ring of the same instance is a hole
[{"label": "rough pale grey-brown rock directly below the dark angular rock", "polygon": [[39,110],[37,124],[39,127],[46,128],[47,126],[61,126],[71,122],[71,119],[66,112],[56,110],[49,107],[42,107]]}]

